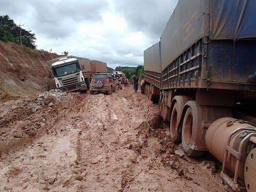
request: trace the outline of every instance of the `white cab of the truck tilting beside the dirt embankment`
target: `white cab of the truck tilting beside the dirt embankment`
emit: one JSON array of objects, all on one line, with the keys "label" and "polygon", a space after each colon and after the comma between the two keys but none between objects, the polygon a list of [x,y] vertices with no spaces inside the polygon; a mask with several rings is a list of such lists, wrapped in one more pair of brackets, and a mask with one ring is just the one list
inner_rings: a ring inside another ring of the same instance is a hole
[{"label": "white cab of the truck tilting beside the dirt embankment", "polygon": [[49,76],[53,75],[57,89],[65,92],[87,91],[82,68],[76,58],[61,57],[49,62]]}]

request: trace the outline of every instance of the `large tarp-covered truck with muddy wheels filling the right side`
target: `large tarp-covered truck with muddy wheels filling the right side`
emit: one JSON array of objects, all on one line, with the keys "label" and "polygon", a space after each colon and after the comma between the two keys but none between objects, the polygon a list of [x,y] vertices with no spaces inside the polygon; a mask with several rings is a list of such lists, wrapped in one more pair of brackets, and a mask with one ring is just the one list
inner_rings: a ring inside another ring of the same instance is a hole
[{"label": "large tarp-covered truck with muddy wheels filling the right side", "polygon": [[256,191],[256,1],[179,0],[144,51],[146,96],[187,156],[209,151],[234,190]]}]

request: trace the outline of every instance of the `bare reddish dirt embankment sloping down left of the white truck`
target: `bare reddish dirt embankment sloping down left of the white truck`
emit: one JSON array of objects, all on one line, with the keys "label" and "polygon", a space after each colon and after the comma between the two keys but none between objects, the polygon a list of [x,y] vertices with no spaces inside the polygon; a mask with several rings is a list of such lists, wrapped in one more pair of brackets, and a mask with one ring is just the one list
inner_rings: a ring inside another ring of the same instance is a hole
[{"label": "bare reddish dirt embankment sloping down left of the white truck", "polygon": [[59,55],[0,41],[0,100],[36,95],[44,91],[46,61]]}]

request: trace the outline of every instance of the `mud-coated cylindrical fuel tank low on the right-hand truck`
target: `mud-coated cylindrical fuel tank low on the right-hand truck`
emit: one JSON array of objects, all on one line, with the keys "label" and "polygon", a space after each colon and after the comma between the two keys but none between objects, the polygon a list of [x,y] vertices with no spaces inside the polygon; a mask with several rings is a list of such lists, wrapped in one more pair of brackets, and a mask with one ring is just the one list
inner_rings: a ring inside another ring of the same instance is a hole
[{"label": "mud-coated cylindrical fuel tank low on the right-hand truck", "polygon": [[[232,117],[224,117],[213,122],[207,129],[205,135],[206,147],[221,163],[224,161],[224,154],[227,145],[237,156],[239,156],[240,163],[237,174],[238,178],[242,180],[244,180],[244,165],[246,157],[255,147],[252,145],[250,138],[247,138],[247,135],[251,133],[256,133],[256,127],[253,125]],[[243,145],[241,145],[241,143],[243,143]],[[239,146],[242,149],[241,154],[238,153]],[[235,173],[236,161],[236,157],[228,151],[226,167],[232,173]]]}]

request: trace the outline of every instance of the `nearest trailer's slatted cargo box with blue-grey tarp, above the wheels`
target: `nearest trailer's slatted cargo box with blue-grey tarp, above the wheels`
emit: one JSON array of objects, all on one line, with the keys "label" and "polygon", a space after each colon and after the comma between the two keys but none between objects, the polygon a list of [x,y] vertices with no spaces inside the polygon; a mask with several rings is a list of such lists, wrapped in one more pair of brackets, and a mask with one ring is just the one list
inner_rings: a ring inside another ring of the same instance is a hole
[{"label": "nearest trailer's slatted cargo box with blue-grey tarp, above the wheels", "polygon": [[161,35],[163,89],[252,89],[256,44],[247,40],[256,37],[255,6],[242,0],[179,1]]}]

